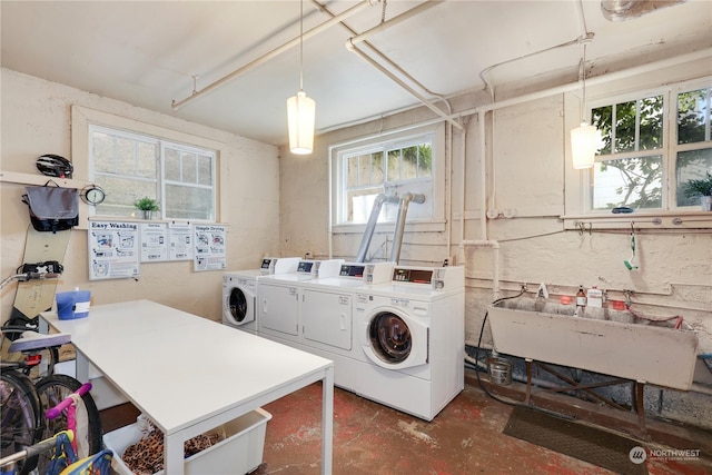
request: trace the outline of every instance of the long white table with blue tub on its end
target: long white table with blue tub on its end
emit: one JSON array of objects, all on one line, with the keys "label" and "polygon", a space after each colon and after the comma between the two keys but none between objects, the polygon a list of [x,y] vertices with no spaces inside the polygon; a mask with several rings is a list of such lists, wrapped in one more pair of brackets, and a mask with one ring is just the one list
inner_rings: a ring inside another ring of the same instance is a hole
[{"label": "long white table with blue tub on its end", "polygon": [[184,473],[186,441],[318,380],[322,473],[332,473],[333,362],[150,300],[41,320],[71,334],[77,379],[89,380],[90,363],[164,432],[165,473]]}]

